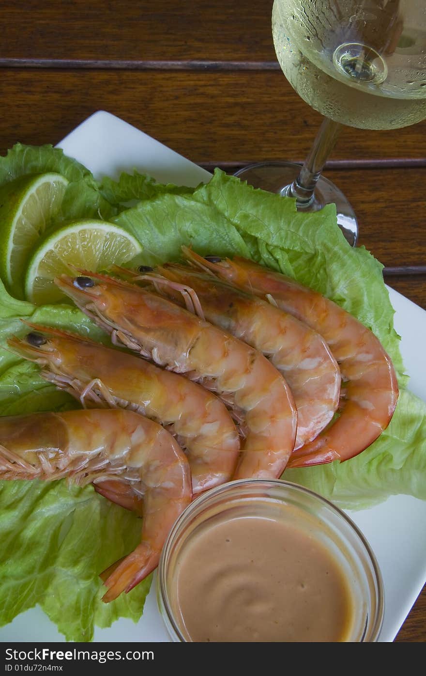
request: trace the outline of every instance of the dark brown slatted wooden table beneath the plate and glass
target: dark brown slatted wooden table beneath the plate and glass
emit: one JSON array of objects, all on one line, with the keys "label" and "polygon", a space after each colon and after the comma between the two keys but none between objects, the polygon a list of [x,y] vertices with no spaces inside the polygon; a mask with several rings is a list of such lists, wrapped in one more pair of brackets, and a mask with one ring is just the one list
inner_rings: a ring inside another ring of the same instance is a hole
[{"label": "dark brown slatted wooden table beneath the plate and glass", "polygon": [[[304,159],[321,122],[279,70],[272,0],[1,3],[0,152],[57,143],[96,110],[211,169]],[[348,128],[326,176],[386,281],[426,309],[426,121]],[[413,274],[414,271],[414,274]],[[426,591],[397,641],[426,639]]]}]

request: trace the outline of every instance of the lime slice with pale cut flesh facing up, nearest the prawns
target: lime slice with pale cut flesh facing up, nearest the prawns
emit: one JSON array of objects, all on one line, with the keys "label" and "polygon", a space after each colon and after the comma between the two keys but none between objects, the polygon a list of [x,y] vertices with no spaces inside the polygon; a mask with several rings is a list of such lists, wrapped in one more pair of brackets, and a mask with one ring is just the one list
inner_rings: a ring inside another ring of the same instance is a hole
[{"label": "lime slice with pale cut flesh facing up, nearest the prawns", "polygon": [[137,239],[103,220],[79,220],[49,235],[34,251],[25,279],[25,294],[37,305],[65,299],[53,283],[59,274],[105,270],[123,265],[142,251]]}]

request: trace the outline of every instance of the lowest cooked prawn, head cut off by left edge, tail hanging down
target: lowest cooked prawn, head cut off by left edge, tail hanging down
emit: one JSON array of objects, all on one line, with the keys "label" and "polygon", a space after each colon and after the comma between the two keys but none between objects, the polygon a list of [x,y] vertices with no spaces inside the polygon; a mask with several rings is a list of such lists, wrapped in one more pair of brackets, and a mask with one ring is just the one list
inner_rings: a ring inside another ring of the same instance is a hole
[{"label": "lowest cooked prawn, head cut off by left edge, tail hanging down", "polygon": [[[129,592],[159,562],[164,541],[192,499],[190,468],[163,427],[125,410],[78,410],[0,418],[0,479],[68,477],[115,486],[143,500],[140,544],[108,569],[103,600]],[[136,510],[137,511],[137,510]]]}]

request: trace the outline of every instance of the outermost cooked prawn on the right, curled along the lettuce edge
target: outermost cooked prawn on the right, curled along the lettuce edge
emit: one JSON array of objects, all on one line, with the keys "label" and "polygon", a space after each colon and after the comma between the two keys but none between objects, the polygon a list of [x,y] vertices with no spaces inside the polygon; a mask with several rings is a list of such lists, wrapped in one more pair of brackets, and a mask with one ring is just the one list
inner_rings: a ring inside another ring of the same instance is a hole
[{"label": "outermost cooked prawn on the right, curled along the lettuce edge", "polygon": [[[191,257],[189,249],[184,255]],[[361,453],[390,423],[398,382],[379,339],[321,293],[244,258],[205,259],[220,279],[267,297],[323,336],[342,372],[341,414],[316,439],[295,451],[289,467],[347,460]]]}]

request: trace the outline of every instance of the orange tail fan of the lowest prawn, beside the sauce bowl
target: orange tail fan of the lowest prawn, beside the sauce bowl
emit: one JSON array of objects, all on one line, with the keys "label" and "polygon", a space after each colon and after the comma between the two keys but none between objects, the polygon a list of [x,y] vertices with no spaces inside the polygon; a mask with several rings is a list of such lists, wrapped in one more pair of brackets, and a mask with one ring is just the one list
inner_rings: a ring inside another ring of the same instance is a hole
[{"label": "orange tail fan of the lowest prawn, beside the sauce bowl", "polygon": [[101,579],[109,573],[109,577],[104,581],[108,591],[103,595],[102,600],[109,603],[122,592],[130,592],[130,589],[136,587],[157,568],[159,558],[159,552],[154,552],[149,544],[142,542],[131,554],[117,562],[118,565],[113,564],[107,571],[101,573]]}]

